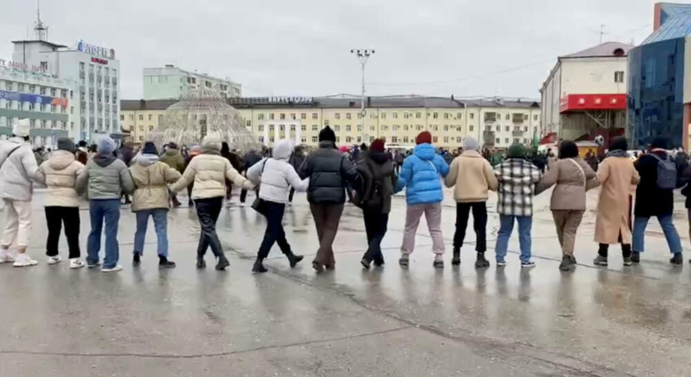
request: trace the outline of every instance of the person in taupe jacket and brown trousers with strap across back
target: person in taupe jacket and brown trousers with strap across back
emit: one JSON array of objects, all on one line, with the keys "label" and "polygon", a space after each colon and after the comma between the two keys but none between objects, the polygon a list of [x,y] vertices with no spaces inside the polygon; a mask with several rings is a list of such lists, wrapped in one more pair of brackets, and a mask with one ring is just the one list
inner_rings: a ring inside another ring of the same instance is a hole
[{"label": "person in taupe jacket and brown trousers with strap across back", "polygon": [[574,244],[576,231],[585,213],[585,191],[597,186],[595,172],[580,157],[578,146],[569,140],[559,144],[559,160],[554,162],[536,186],[541,193],[555,185],[549,209],[552,211],[557,238],[562,248],[561,271],[572,271],[576,265]]}]

